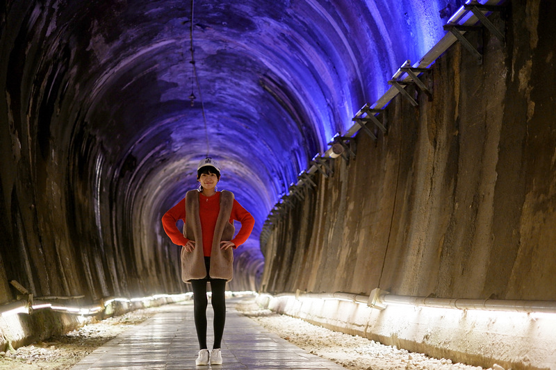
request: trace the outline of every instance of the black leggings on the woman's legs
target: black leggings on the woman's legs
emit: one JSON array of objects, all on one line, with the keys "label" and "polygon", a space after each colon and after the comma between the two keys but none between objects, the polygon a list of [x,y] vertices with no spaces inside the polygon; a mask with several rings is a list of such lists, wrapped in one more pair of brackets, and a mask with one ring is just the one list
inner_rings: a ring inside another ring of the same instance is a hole
[{"label": "black leggings on the woman's legs", "polygon": [[[206,258],[205,258],[206,259]],[[210,263],[210,262],[209,262]],[[207,268],[208,276],[208,268]],[[199,340],[199,349],[206,346],[206,283],[211,283],[212,298],[211,303],[214,310],[214,345],[213,348],[220,348],[222,335],[224,334],[224,323],[226,322],[226,280],[204,278],[190,280],[193,285],[193,317],[195,318],[195,329]]]}]

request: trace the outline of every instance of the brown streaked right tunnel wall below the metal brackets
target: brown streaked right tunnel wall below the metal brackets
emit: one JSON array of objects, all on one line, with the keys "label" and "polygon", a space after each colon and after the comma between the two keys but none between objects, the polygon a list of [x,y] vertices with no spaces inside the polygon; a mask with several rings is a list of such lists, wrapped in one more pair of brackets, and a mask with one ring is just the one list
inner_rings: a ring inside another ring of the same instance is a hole
[{"label": "brown streaked right tunnel wall below the metal brackets", "polygon": [[554,11],[512,1],[482,65],[457,43],[423,77],[432,101],[396,96],[387,135],[360,131],[275,223],[263,289],[555,300]]}]

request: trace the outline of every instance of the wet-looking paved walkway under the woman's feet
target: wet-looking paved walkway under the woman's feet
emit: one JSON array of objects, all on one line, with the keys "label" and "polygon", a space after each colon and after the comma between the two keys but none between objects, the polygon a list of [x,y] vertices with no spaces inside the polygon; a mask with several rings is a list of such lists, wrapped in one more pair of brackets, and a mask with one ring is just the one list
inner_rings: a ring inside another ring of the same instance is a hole
[{"label": "wet-looking paved walkway under the woman's feet", "polygon": [[[208,346],[211,349],[212,308],[207,309]],[[227,301],[222,340],[222,365],[195,366],[199,347],[193,322],[193,302],[165,306],[163,312],[126,330],[97,348],[72,370],[85,369],[331,369],[334,362],[311,355],[242,316]]]}]

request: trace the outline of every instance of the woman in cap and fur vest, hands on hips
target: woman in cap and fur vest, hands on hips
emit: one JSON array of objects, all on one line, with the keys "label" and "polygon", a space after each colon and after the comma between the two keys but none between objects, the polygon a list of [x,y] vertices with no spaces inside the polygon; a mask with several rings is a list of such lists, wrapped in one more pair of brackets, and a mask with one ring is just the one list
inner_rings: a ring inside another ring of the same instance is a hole
[{"label": "woman in cap and fur vest, hands on hips", "polygon": [[[211,302],[214,310],[214,345],[211,364],[222,364],[220,344],[226,320],[225,288],[232,278],[232,261],[236,249],[251,234],[255,221],[227,190],[217,192],[220,166],[210,157],[197,166],[198,190],[190,190],[186,197],[162,217],[166,234],[181,245],[181,279],[193,285],[193,312],[199,340],[199,355],[195,363],[208,365],[206,346],[206,283],[211,283]],[[184,222],[183,233],[176,221]],[[234,237],[234,220],[241,228]]]}]

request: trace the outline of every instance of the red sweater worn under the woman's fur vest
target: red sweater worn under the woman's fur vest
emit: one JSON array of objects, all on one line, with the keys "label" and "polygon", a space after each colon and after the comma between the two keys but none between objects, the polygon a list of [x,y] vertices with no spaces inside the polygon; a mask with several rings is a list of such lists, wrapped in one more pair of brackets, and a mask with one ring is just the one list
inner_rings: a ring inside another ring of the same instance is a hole
[{"label": "red sweater worn under the woman's fur vest", "polygon": [[[211,256],[211,250],[213,245],[214,228],[216,226],[216,220],[218,219],[218,213],[220,212],[220,192],[216,192],[213,196],[204,196],[199,193],[199,217],[201,219],[201,230],[203,233],[203,252],[205,257]],[[172,242],[177,245],[186,245],[189,241],[183,236],[183,233],[177,228],[177,220],[186,221],[186,199],[183,198],[177,205],[170,208],[168,212],[162,217],[162,226],[166,234],[170,237]],[[250,212],[247,212],[236,199],[234,199],[234,205],[231,208],[230,222],[240,221],[241,228],[238,235],[231,239],[231,242],[236,244],[236,248],[241,244],[245,243],[253,226],[255,225],[255,220]]]}]

